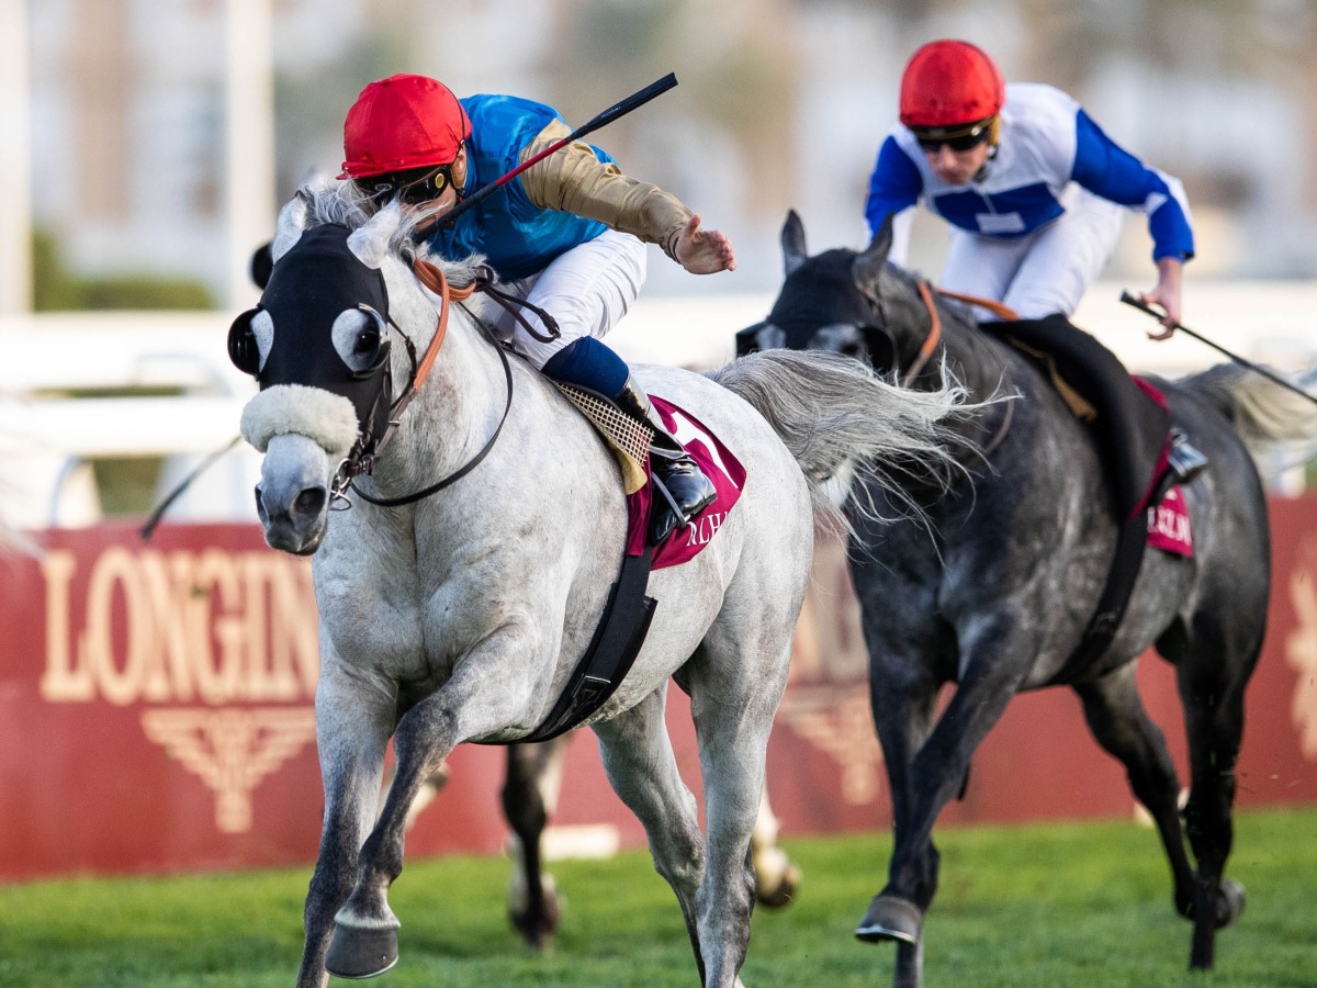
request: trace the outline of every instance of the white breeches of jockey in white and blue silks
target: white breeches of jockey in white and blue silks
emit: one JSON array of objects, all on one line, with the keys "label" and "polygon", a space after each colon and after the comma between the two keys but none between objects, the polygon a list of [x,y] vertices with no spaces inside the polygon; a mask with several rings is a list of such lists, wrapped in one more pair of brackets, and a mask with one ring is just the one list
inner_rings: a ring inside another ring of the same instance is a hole
[{"label": "white breeches of jockey in white and blue silks", "polygon": [[1064,213],[1026,237],[997,240],[952,227],[940,286],[1002,302],[1021,319],[1073,315],[1115,249],[1125,208],[1073,184],[1063,204]]}]

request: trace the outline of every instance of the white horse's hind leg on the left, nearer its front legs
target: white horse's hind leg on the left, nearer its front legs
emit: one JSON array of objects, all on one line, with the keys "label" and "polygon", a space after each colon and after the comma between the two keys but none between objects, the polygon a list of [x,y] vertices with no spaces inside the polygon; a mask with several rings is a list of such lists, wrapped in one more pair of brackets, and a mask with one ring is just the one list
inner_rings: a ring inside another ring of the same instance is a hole
[{"label": "white horse's hind leg on the left, nearer its front legs", "polygon": [[[707,983],[695,898],[705,876],[705,842],[695,797],[681,780],[664,723],[666,689],[661,686],[624,714],[591,728],[599,739],[599,755],[612,790],[644,826],[655,871],[677,896],[703,985]],[[743,851],[743,858],[747,856]]]}]

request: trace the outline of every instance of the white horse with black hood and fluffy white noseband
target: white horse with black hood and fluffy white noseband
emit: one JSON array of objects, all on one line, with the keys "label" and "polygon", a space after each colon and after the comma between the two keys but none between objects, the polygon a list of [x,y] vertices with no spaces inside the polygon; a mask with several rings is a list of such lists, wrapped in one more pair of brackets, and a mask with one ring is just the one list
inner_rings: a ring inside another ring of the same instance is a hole
[{"label": "white horse with black hood and fluffy white noseband", "polygon": [[[332,187],[302,190],[279,215],[261,307],[230,332],[234,362],[262,386],[242,435],[265,453],[266,540],[315,553],[325,808],[303,988],[325,984],[327,970],[366,977],[396,962],[387,892],[408,808],[457,744],[514,742],[541,723],[624,553],[619,470],[599,435],[468,307],[448,304],[448,286],[470,286],[475,266],[432,265],[410,234],[394,206],[367,217]],[[785,350],[712,379],[636,371],[747,476],[709,545],[649,576],[648,638],[589,722],[677,894],[702,983],[730,988],[749,935],[769,728],[815,515],[830,510],[820,485],[860,457],[947,462],[942,423],[959,393],[898,391],[844,357]],[[350,510],[332,511],[345,494]],[[705,837],[664,726],[669,677],[691,697]],[[390,736],[398,768],[377,815]]]}]

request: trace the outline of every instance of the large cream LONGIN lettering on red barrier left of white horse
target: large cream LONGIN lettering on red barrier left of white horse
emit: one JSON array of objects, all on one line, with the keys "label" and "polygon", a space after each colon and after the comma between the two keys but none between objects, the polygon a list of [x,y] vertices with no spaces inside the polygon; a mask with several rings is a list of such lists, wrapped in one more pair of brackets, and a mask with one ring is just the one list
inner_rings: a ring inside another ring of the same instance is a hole
[{"label": "large cream LONGIN lettering on red barrier left of white horse", "polygon": [[316,610],[304,563],[262,551],[111,545],[91,560],[80,593],[78,564],[67,549],[41,560],[42,700],[221,706],[313,698]]}]

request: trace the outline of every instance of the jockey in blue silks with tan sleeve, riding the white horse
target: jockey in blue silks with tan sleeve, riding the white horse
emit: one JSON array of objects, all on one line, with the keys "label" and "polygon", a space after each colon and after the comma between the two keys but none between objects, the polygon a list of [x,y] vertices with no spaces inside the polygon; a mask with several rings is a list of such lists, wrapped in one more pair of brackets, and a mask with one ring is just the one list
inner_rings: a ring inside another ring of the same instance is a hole
[{"label": "jockey in blue silks with tan sleeve, riding the white horse", "polygon": [[570,133],[551,107],[515,96],[458,100],[423,75],[370,83],[348,111],[342,174],[375,200],[399,195],[404,207],[436,217],[424,227],[443,257],[485,254],[502,287],[551,312],[560,336],[548,339],[533,310],[529,325],[506,315],[495,329],[548,377],[608,398],[655,431],[651,468],[676,502],[655,540],[686,524],[715,498],[714,485],[664,428],[648,395],[599,341],[626,315],[645,279],[645,244],[693,274],[734,270],[727,237],[661,188],[624,175],[605,151],[573,141],[461,213],[443,215]]}]

